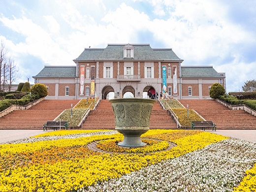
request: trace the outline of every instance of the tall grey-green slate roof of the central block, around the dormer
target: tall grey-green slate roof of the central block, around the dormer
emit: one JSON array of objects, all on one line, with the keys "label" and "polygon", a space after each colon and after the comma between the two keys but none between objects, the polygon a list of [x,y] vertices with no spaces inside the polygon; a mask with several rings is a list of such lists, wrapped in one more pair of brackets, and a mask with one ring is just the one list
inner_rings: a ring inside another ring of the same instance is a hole
[{"label": "tall grey-green slate roof of the central block, around the dormer", "polygon": [[105,49],[85,49],[76,61],[95,60],[164,60],[182,61],[172,49],[152,49],[149,44],[132,44],[134,58],[123,59],[123,47],[126,44],[108,44]]}]

